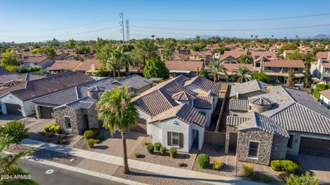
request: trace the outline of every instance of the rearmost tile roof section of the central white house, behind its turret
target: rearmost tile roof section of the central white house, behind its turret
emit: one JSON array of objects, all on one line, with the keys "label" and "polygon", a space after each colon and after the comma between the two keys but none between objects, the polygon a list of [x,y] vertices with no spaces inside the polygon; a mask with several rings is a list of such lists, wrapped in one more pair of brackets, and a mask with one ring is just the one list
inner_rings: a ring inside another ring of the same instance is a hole
[{"label": "rearmost tile roof section of the central white house, behind its turret", "polygon": [[213,96],[217,96],[220,93],[220,83],[214,83],[212,80],[208,80],[201,76],[196,76],[187,80],[184,86],[193,85],[206,92],[211,92]]}]

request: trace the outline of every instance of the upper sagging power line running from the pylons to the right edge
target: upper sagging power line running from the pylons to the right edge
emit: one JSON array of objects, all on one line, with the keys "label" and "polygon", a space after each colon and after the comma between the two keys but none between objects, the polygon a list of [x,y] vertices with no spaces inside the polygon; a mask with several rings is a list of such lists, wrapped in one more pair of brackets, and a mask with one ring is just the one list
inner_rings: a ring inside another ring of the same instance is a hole
[{"label": "upper sagging power line running from the pylons to the right edge", "polygon": [[306,17],[320,17],[324,15],[330,15],[330,13],[309,14],[309,15],[301,15],[294,17],[273,17],[273,18],[262,18],[262,19],[178,20],[178,19],[141,19],[141,18],[133,18],[133,17],[130,17],[129,19],[138,20],[138,21],[163,21],[163,22],[245,22],[245,21],[274,21],[274,20],[283,20],[283,19],[299,19]]}]

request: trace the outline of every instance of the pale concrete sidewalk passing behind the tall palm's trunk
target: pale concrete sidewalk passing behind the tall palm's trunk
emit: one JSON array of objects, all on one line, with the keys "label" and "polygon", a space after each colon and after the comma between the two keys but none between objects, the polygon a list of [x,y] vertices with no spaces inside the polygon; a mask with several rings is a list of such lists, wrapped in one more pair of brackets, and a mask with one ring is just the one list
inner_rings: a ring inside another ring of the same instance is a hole
[{"label": "pale concrete sidewalk passing behind the tall palm's trunk", "polygon": [[[69,146],[63,146],[63,145],[56,145],[51,144],[47,142],[41,142],[37,140],[30,140],[25,139],[21,142],[21,144],[24,144],[26,146],[39,148],[39,149],[45,149],[48,151],[55,151],[58,153],[67,153],[70,155],[74,155],[76,157],[83,157],[90,160],[96,160],[100,162],[106,162],[109,164],[115,164],[115,165],[122,165],[122,157],[117,157],[113,155],[107,155],[103,153],[96,153],[93,151],[85,151],[81,149],[74,149]],[[159,164],[153,164],[149,162],[141,162],[138,160],[130,160],[129,159],[129,167],[135,168],[142,171],[148,171],[150,173],[158,173],[161,175],[167,175],[173,178],[179,178],[179,179],[188,179],[188,180],[196,180],[199,182],[205,182],[210,184],[246,184],[246,185],[254,185],[254,184],[262,184],[259,182],[252,182],[247,181],[243,179],[235,179],[231,177],[223,177],[219,175],[212,175],[208,173],[201,173],[197,171],[190,171],[182,168],[175,168],[170,166],[163,166]]]}]

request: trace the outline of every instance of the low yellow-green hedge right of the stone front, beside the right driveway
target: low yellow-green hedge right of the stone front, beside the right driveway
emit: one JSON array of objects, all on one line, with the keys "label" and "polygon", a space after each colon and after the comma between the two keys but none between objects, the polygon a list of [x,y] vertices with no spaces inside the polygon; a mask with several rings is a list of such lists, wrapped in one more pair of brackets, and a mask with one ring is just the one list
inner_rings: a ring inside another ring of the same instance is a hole
[{"label": "low yellow-green hedge right of the stone front, beside the right driveway", "polygon": [[301,172],[301,166],[292,160],[273,160],[270,162],[270,166],[272,166],[274,171],[285,171],[294,174]]}]

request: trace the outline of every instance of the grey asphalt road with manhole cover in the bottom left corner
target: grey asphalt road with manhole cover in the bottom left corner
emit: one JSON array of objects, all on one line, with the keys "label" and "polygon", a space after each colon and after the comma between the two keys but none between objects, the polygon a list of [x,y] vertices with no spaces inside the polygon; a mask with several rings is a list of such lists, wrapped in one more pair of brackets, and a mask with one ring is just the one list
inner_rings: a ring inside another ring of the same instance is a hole
[{"label": "grey asphalt road with manhole cover in the bottom left corner", "polygon": [[[107,179],[101,179],[83,173],[76,173],[74,171],[67,171],[63,168],[56,168],[54,166],[30,162],[28,160],[21,160],[20,164],[24,169],[31,173],[32,179],[40,185],[121,185],[118,182],[112,182]],[[46,174],[45,172],[50,169],[53,169],[54,172]]]}]

